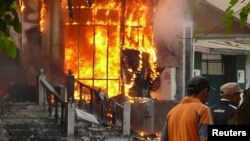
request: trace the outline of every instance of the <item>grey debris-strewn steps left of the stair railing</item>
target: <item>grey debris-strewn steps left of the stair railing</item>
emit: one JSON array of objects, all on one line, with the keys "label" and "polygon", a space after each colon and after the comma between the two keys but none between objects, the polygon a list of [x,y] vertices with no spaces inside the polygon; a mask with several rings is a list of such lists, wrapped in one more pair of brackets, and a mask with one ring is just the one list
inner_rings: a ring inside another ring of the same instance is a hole
[{"label": "grey debris-strewn steps left of the stair railing", "polygon": [[5,106],[0,121],[0,138],[6,141],[60,140],[65,128],[60,124],[60,108],[56,120],[54,112],[49,115],[44,107],[34,103]]}]

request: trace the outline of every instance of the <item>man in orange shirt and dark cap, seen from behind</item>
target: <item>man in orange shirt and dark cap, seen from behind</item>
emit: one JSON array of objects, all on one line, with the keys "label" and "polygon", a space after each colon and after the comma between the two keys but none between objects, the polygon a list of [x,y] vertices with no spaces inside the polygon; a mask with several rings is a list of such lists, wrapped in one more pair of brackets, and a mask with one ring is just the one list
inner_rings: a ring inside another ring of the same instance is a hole
[{"label": "man in orange shirt and dark cap, seen from behind", "polygon": [[194,76],[187,82],[188,97],[173,107],[166,117],[161,141],[207,141],[211,110],[205,105],[211,87],[207,78]]}]

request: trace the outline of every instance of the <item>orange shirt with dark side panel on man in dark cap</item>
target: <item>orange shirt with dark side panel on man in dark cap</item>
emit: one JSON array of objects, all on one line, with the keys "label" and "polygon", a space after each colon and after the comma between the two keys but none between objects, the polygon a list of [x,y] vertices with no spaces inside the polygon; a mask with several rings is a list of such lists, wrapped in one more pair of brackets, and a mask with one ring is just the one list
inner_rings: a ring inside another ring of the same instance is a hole
[{"label": "orange shirt with dark side panel on man in dark cap", "polygon": [[200,141],[213,124],[211,110],[197,98],[184,98],[167,114],[168,141]]}]

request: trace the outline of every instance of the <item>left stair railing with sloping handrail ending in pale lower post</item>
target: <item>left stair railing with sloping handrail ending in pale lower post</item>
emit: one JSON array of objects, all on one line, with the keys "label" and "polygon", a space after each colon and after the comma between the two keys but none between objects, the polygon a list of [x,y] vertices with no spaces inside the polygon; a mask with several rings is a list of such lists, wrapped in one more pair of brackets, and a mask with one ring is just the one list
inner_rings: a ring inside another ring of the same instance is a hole
[{"label": "left stair railing with sloping handrail ending in pale lower post", "polygon": [[[56,121],[60,119],[60,126],[62,131],[66,131],[67,135],[74,135],[74,103],[72,99],[65,99],[67,95],[66,89],[63,85],[52,86],[44,75],[44,70],[39,70],[39,75],[37,76],[37,87],[38,87],[38,104],[44,106],[44,110],[48,109],[49,116],[52,117],[54,109],[54,118]],[[49,92],[49,93],[48,93]],[[50,98],[50,95],[53,95],[53,102]],[[60,114],[59,117],[59,106]],[[53,108],[54,107],[54,108]],[[73,110],[72,110],[73,109]],[[73,120],[72,120],[73,118]]]}]

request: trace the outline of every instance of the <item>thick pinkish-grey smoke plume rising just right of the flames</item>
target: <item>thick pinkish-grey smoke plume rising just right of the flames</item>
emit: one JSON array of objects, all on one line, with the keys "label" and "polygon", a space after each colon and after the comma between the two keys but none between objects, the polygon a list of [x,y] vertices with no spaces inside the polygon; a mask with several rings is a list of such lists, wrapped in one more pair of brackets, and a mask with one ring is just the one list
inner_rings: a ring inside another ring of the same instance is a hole
[{"label": "thick pinkish-grey smoke plume rising just right of the flames", "polygon": [[154,15],[157,65],[177,67],[182,62],[183,24],[190,20],[187,0],[160,0]]}]

